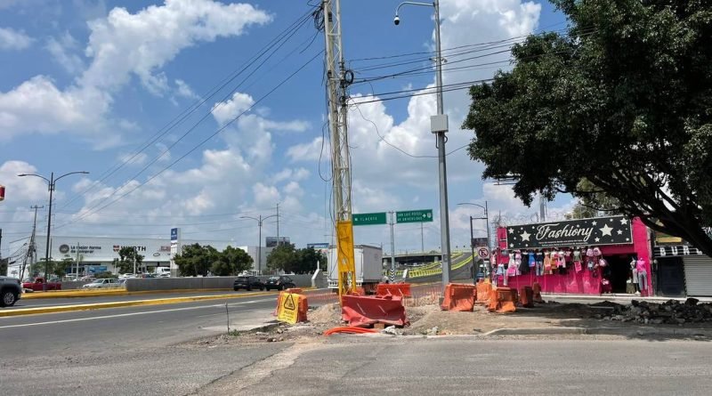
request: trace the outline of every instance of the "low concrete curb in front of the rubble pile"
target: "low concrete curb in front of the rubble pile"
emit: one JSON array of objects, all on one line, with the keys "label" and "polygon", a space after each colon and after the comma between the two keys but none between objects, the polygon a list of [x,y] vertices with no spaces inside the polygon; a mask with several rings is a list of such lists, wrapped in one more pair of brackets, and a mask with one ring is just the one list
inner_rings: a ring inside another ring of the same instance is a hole
[{"label": "low concrete curb in front of the rubble pile", "polygon": [[712,328],[672,327],[522,327],[498,328],[481,336],[490,335],[702,335],[712,336]]}]

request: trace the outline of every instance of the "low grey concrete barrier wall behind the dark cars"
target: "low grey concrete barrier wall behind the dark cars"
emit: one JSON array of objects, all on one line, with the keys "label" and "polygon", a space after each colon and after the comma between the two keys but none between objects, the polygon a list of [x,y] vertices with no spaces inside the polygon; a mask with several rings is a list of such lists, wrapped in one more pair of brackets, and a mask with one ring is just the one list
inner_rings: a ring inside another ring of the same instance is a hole
[{"label": "low grey concrete barrier wall behind the dark cars", "polygon": [[[312,287],[312,275],[287,275],[295,282],[296,287]],[[238,277],[181,277],[181,278],[146,278],[126,279],[126,290],[129,292],[154,291],[154,290],[182,290],[182,289],[205,289],[219,290],[231,289],[232,284]],[[263,282],[269,276],[258,277]]]}]

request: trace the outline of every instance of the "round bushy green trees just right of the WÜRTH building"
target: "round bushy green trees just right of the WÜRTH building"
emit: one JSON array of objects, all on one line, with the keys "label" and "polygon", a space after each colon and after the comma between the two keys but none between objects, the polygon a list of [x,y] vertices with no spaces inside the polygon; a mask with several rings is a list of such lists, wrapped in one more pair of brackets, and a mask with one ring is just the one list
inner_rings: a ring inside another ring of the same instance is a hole
[{"label": "round bushy green trees just right of the W\u00dcRTH building", "polygon": [[206,276],[208,271],[218,276],[237,275],[252,268],[252,257],[242,249],[227,246],[222,252],[213,246],[192,244],[175,255],[175,264],[184,277]]}]

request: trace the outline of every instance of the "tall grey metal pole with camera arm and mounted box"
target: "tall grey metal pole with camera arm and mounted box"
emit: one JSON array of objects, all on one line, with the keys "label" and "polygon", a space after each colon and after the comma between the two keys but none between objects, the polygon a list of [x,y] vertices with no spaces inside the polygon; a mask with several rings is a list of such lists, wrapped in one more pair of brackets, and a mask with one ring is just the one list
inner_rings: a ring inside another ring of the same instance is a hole
[{"label": "tall grey metal pole with camera arm and mounted box", "polygon": [[435,9],[435,91],[437,93],[438,111],[430,117],[430,132],[436,135],[438,147],[438,176],[440,178],[440,230],[442,254],[442,287],[446,287],[450,279],[450,231],[448,212],[448,171],[445,162],[445,133],[448,132],[448,116],[443,114],[442,105],[442,55],[440,42],[440,0],[433,3],[403,2],[395,9],[393,23],[399,25],[401,17],[398,12],[403,5],[424,5]]}]

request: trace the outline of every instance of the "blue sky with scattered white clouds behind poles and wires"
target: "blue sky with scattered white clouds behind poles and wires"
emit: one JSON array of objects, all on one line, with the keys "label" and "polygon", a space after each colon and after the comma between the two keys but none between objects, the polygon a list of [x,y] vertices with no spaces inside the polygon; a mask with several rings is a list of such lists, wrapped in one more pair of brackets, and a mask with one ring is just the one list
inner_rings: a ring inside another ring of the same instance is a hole
[{"label": "blue sky with scattered white clouds behind poles and wires", "polygon": [[[395,27],[398,3],[342,0],[344,56],[357,80],[423,69],[350,89],[354,212],[432,208],[425,248],[438,248],[435,97],[373,101],[433,85],[432,10],[404,7]],[[186,238],[255,245],[255,222],[240,216],[274,214],[279,203],[280,235],[298,246],[328,241],[324,37],[302,18],[310,10],[307,0],[0,0],[0,253],[29,234],[29,206],[45,206],[46,224],[44,182],[16,174],[78,170],[91,174],[57,183],[58,235],[167,238],[177,225]],[[508,45],[565,27],[536,1],[441,0],[441,18],[446,85],[489,78],[508,67]],[[274,53],[213,91],[283,32]],[[481,214],[459,202],[487,200],[511,222],[535,213],[508,187],[482,182],[481,164],[457,150],[473,136],[459,129],[468,105],[465,90],[445,95],[453,248],[467,243],[468,215]],[[570,198],[549,206],[561,214]],[[263,236],[276,234],[274,220]],[[398,250],[420,249],[417,224],[396,230]],[[357,243],[390,244],[385,226],[355,232]]]}]

